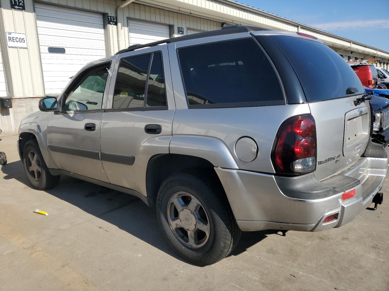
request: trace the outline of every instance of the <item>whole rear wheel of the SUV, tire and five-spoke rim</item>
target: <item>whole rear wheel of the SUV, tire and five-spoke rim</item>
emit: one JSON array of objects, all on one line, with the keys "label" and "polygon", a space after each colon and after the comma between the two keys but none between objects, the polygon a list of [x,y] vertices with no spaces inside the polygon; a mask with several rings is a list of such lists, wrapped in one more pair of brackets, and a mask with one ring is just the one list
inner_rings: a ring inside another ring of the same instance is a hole
[{"label": "whole rear wheel of the SUV, tire and five-spoke rim", "polygon": [[163,182],[157,215],[173,250],[197,265],[219,262],[240,238],[223,188],[198,171],[175,173]]}]

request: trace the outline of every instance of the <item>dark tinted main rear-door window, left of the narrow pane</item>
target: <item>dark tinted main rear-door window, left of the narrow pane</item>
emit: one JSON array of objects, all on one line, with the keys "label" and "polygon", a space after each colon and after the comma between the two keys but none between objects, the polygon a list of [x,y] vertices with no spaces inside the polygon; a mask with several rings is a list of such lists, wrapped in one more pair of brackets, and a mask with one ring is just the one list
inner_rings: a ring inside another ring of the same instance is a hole
[{"label": "dark tinted main rear-door window, left of the narrow pane", "polygon": [[151,54],[136,55],[120,61],[112,108],[143,107],[147,69]]}]

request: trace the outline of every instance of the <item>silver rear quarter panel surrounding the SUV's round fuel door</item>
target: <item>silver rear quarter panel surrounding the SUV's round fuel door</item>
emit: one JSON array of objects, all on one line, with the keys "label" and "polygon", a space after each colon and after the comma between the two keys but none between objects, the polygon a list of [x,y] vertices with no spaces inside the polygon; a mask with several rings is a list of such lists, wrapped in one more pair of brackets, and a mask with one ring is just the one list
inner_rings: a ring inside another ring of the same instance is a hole
[{"label": "silver rear quarter panel surrounding the SUV's round fuel door", "polygon": [[[239,169],[275,173],[271,152],[279,126],[291,116],[310,113],[308,104],[289,104],[262,107],[179,109],[173,119],[173,137],[170,152],[199,155],[191,144],[181,142],[181,136],[191,136],[203,143],[202,158],[216,167],[230,167],[231,158]],[[251,137],[258,145],[258,156],[249,163],[235,155],[235,144],[241,137]],[[204,139],[208,138],[208,139]],[[226,148],[222,152],[220,143]],[[221,159],[220,155],[224,155]],[[228,161],[224,165],[223,161]]]}]

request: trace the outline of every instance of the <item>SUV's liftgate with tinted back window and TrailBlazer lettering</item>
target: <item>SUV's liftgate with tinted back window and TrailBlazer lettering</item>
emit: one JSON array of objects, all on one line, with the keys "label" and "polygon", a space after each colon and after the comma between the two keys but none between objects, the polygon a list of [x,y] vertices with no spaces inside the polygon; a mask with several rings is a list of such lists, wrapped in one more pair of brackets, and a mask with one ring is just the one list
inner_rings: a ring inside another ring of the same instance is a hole
[{"label": "SUV's liftgate with tinted back window and TrailBlazer lettering", "polygon": [[320,180],[333,175],[356,161],[369,140],[369,104],[354,104],[364,94],[361,81],[349,64],[323,43],[293,36],[269,37],[291,62],[315,119],[315,176]]}]

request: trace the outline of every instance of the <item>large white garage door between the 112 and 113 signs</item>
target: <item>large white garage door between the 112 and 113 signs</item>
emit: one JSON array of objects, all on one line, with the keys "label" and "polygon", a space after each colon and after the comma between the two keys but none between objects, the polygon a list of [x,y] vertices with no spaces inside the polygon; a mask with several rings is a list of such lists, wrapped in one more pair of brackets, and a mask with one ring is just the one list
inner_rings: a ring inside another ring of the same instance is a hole
[{"label": "large white garage door between the 112 and 113 signs", "polygon": [[46,94],[58,94],[85,64],[106,56],[102,14],[35,3]]}]

